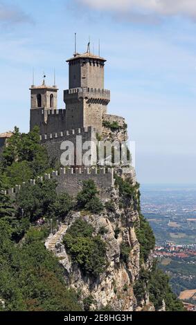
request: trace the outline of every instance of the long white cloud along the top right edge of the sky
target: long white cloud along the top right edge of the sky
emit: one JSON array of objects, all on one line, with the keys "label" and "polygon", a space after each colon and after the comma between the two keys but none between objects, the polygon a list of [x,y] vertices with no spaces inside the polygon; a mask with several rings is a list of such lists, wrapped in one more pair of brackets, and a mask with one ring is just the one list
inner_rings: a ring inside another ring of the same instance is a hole
[{"label": "long white cloud along the top right edge of the sky", "polygon": [[182,15],[196,18],[195,0],[78,0],[90,8],[125,14],[133,17],[157,15],[159,17]]}]

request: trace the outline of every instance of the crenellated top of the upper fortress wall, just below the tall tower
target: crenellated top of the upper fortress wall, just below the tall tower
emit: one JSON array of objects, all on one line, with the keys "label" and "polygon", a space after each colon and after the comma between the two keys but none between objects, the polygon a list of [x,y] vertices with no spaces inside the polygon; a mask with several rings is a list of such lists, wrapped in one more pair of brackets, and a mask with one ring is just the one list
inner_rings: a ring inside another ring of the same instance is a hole
[{"label": "crenellated top of the upper fortress wall, just below the tall tower", "polygon": [[55,132],[55,133],[48,133],[48,134],[42,134],[40,136],[41,141],[51,140],[51,139],[57,139],[57,138],[63,138],[63,137],[69,137],[69,136],[91,136],[91,133],[95,133],[96,129],[93,127],[82,127],[78,129],[71,129],[68,131],[61,131],[61,132]]}]

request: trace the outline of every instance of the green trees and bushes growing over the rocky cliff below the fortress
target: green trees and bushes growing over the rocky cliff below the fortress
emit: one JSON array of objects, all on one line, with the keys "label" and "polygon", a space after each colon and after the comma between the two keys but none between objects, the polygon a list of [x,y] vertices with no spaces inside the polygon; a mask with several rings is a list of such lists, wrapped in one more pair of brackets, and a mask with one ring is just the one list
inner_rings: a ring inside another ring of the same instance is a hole
[{"label": "green trees and bushes growing over the rocky cliff below the fortress", "polygon": [[[0,165],[0,189],[20,184],[29,178],[40,176],[51,165],[46,151],[39,143],[39,131],[35,128],[28,134],[19,133],[8,140],[3,150]],[[115,176],[119,187],[120,208],[132,207],[139,213],[134,223],[140,243],[141,272],[134,286],[138,303],[149,293],[150,301],[158,310],[163,300],[166,310],[182,310],[179,300],[168,285],[168,277],[154,264],[152,271],[145,267],[154,248],[154,235],[140,211],[139,184]],[[66,218],[72,210],[84,210],[89,214],[115,213],[114,201],[103,205],[98,198],[98,189],[92,180],[83,184],[82,191],[73,199],[69,194],[57,196],[56,184],[46,180],[32,186],[26,183],[12,201],[0,194],[0,310],[81,310],[78,296],[64,283],[63,268],[57,259],[44,247],[48,236],[49,220]],[[43,225],[38,226],[42,221]],[[98,277],[107,266],[107,243],[102,227],[98,234],[87,221],[76,220],[64,236],[64,245],[73,263],[77,263],[84,275]],[[121,229],[114,230],[118,239]],[[120,262],[127,263],[132,248],[121,243]],[[85,301],[88,310],[91,297]]]}]

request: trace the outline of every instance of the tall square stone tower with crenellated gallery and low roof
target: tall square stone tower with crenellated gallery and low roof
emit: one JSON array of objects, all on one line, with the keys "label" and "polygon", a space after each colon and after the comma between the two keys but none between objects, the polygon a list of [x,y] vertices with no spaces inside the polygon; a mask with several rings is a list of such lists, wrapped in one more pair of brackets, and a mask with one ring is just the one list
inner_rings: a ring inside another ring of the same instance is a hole
[{"label": "tall square stone tower with crenellated gallery and low roof", "polygon": [[69,89],[64,91],[66,130],[94,127],[102,130],[110,92],[104,89],[103,57],[75,53],[69,63]]}]

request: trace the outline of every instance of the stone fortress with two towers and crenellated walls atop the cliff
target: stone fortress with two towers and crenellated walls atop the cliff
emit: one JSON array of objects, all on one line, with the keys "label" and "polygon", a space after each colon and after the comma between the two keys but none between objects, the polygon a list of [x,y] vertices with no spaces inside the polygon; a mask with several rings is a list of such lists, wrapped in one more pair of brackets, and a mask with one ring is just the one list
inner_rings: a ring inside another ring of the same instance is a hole
[{"label": "stone fortress with two towers and crenellated walls atop the cliff", "polygon": [[[84,54],[75,53],[66,62],[69,64],[69,89],[64,91],[66,109],[57,109],[58,89],[55,82],[53,86],[47,86],[44,76],[41,86],[33,84],[30,87],[30,130],[35,125],[39,127],[42,145],[46,146],[53,161],[60,161],[62,142],[69,140],[75,145],[77,136],[82,136],[82,144],[92,140],[98,142],[98,137],[103,140],[127,140],[125,119],[107,114],[110,91],[104,88],[106,60],[88,50]],[[112,132],[108,124],[114,122],[119,128]],[[1,148],[5,142],[6,138],[1,138]],[[114,187],[114,168],[92,165],[85,168],[82,164],[78,165],[74,158],[69,169],[61,168],[37,180],[30,180],[30,183],[54,178],[58,184],[57,192],[66,191],[75,195],[82,188],[83,180],[92,178],[100,189],[100,197],[107,198]],[[4,193],[15,196],[20,188],[21,185],[16,185]]]}]

